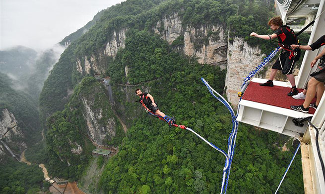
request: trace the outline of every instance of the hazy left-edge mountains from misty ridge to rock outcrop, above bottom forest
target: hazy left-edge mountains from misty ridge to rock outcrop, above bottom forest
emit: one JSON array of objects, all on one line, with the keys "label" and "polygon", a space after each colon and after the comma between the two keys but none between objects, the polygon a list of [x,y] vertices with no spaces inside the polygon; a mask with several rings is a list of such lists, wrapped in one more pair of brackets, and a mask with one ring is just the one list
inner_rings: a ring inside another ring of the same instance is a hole
[{"label": "hazy left-edge mountains from misty ridge to rock outcrop, above bottom forest", "polygon": [[18,46],[0,51],[0,139],[17,155],[41,139],[38,97],[62,50],[37,53]]}]

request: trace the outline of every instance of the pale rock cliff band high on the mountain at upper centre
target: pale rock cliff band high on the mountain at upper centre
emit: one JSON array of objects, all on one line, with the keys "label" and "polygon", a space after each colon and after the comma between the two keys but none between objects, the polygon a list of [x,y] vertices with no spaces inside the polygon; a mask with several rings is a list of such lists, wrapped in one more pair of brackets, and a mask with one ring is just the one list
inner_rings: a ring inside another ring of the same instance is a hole
[{"label": "pale rock cliff band high on the mountain at upper centre", "polygon": [[[179,37],[184,37],[183,52],[190,57],[197,58],[201,64],[219,65],[226,68],[227,36],[221,26],[201,25],[199,28],[186,25],[177,13],[165,15],[157,22],[154,32],[159,34],[169,44],[173,44]],[[180,50],[180,48],[178,49]]]}]

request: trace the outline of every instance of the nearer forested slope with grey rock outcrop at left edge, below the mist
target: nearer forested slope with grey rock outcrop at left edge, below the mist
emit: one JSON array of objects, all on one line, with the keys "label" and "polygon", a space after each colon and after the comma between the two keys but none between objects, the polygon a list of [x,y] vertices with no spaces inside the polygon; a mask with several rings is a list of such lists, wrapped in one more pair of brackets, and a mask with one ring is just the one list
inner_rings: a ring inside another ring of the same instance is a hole
[{"label": "nearer forested slope with grey rock outcrop at left edge, below the mist", "polygon": [[0,140],[19,155],[27,146],[40,140],[40,122],[37,100],[12,89],[12,82],[0,73]]}]

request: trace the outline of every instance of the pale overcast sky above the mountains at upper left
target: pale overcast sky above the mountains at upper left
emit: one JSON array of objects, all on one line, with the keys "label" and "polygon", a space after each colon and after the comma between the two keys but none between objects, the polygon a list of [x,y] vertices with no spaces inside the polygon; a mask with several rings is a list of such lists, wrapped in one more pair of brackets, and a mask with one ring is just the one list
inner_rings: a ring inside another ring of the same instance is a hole
[{"label": "pale overcast sky above the mountains at upper left", "polygon": [[42,50],[60,42],[94,15],[125,0],[0,0],[0,50]]}]

